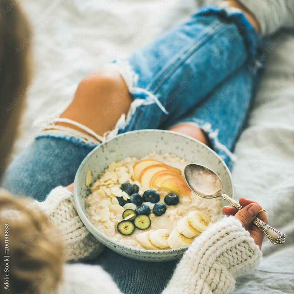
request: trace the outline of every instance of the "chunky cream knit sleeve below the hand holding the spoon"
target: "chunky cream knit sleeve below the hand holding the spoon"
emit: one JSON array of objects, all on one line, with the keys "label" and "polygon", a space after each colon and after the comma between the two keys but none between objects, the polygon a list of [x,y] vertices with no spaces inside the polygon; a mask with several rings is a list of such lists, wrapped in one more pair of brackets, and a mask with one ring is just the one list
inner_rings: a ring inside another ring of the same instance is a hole
[{"label": "chunky cream knit sleeve below the hand holding the spoon", "polygon": [[225,217],[194,240],[163,294],[227,294],[259,264],[261,251],[239,220]]}]

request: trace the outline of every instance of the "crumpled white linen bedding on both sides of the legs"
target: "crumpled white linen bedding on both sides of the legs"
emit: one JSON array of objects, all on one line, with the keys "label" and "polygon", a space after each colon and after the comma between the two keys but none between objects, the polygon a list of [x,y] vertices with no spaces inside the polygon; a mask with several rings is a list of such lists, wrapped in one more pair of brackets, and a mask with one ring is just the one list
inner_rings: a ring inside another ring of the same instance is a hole
[{"label": "crumpled white linen bedding on both sides of the legs", "polygon": [[[33,27],[28,43],[34,80],[24,89],[27,108],[12,158],[40,131],[42,126],[32,122],[65,108],[83,76],[184,21],[197,2],[22,0],[16,5],[24,7]],[[294,293],[294,32],[278,32],[264,49],[266,69],[235,148],[232,174],[235,199],[258,201],[270,225],[286,234],[286,243],[272,245],[265,238],[263,261],[237,279],[238,294]]]}]

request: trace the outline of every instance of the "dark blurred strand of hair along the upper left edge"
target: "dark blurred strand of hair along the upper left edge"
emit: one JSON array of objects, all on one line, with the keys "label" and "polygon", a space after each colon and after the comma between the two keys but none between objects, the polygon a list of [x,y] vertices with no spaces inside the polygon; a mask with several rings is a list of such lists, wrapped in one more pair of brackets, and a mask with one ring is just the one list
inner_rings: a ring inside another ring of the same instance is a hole
[{"label": "dark blurred strand of hair along the upper left edge", "polygon": [[[0,166],[5,165],[23,108],[30,80],[29,46],[17,50],[30,36],[20,4],[0,0]],[[1,173],[0,173],[1,174]]]}]

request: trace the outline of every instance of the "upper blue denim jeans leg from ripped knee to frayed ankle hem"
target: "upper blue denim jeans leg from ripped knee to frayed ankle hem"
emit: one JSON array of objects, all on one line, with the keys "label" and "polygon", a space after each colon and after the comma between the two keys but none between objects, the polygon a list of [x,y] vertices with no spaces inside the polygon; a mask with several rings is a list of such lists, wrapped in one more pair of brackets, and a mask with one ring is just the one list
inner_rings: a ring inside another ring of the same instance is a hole
[{"label": "upper blue denim jeans leg from ripped knee to frayed ankle hem", "polygon": [[113,134],[172,124],[251,64],[259,45],[243,13],[204,7],[129,58],[108,65],[121,73],[134,97]]}]

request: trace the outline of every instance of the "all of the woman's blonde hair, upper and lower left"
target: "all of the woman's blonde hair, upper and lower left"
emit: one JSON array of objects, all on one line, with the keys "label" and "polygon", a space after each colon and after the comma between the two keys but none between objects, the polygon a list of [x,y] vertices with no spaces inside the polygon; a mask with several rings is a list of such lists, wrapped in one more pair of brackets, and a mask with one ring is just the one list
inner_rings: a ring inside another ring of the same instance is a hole
[{"label": "all of the woman's blonde hair, upper and lower left", "polygon": [[[20,46],[30,30],[19,6],[0,0],[0,167],[11,151],[30,80],[29,46]],[[28,205],[0,189],[0,252],[9,256],[0,264],[0,288],[8,294],[50,293],[61,279],[63,245],[52,238],[56,228]]]}]

